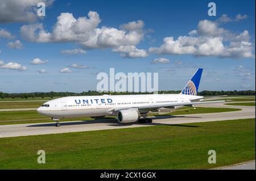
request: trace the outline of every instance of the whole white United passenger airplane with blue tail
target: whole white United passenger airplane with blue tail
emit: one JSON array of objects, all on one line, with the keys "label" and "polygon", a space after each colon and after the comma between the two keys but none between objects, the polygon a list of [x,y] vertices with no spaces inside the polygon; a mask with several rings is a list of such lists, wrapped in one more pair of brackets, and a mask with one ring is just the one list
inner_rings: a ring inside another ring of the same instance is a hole
[{"label": "whole white United passenger airplane with blue tail", "polygon": [[49,100],[36,111],[51,117],[56,121],[56,127],[60,126],[60,119],[75,117],[116,116],[119,123],[152,123],[152,119],[146,117],[148,112],[164,112],[182,106],[224,102],[201,101],[204,97],[198,96],[197,91],[202,73],[203,69],[197,69],[179,94],[67,96]]}]

